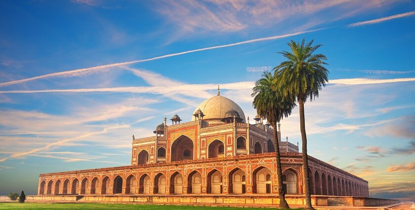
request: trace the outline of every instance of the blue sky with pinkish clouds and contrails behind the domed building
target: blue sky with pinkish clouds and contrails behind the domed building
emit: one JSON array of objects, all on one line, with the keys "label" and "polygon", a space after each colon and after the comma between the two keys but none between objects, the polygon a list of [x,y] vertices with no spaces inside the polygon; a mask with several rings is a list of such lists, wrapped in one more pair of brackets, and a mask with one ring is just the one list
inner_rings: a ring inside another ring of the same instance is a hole
[{"label": "blue sky with pinkish clouds and contrails behind the domed building", "polygon": [[[309,154],[367,179],[373,197],[415,200],[414,11],[398,0],[0,1],[0,194],[36,193],[40,173],[128,165],[133,134],[176,113],[189,121],[217,84],[253,117],[253,82],[305,38],[323,44],[331,82],[305,106]],[[281,122],[293,143],[298,122],[297,109]]]}]

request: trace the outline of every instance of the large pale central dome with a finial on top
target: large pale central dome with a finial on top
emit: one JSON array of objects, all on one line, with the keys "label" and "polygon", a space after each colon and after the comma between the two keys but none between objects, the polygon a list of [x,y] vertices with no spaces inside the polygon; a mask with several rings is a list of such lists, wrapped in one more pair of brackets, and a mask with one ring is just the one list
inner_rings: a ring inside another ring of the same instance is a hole
[{"label": "large pale central dome with a finial on top", "polygon": [[[242,119],[242,122],[245,123],[244,111],[242,111],[241,107],[237,103],[235,103],[227,97],[220,95],[219,85],[217,87],[217,95],[199,104],[199,106],[196,107],[193,113],[196,113],[199,109],[205,115],[203,117],[203,120],[207,122],[210,121],[220,123],[221,120],[225,117],[226,112],[234,110],[239,114],[239,117]],[[195,120],[196,117],[192,116],[192,121]]]}]

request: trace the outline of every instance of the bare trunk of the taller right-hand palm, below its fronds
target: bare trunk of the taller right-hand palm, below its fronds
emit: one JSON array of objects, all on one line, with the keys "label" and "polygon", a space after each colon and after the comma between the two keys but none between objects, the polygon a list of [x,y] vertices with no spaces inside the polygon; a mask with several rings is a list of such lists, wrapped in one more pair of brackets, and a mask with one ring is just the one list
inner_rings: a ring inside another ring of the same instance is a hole
[{"label": "bare trunk of the taller right-hand palm, below its fronds", "polygon": [[311,206],[311,192],[310,192],[310,175],[308,174],[308,155],[307,155],[307,135],[305,133],[305,119],[304,119],[304,101],[301,97],[298,99],[300,108],[300,130],[302,140],[302,158],[304,171],[304,185],[305,185],[305,210],[314,210]]}]

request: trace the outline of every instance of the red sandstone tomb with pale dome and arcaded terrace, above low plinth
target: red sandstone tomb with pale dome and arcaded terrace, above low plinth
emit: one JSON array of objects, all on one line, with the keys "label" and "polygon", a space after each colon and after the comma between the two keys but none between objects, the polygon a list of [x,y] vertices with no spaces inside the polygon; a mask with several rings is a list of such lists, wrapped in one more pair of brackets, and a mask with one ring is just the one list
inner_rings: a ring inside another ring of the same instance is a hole
[{"label": "red sandstone tomb with pale dome and arcaded terrace, above low plinth", "polygon": [[[298,146],[281,141],[278,128],[284,180],[278,186],[273,128],[259,118],[245,123],[236,106],[218,93],[192,121],[180,124],[175,115],[175,125],[165,118],[155,136],[133,136],[130,166],[40,174],[38,195],[278,194],[279,187],[302,195]],[[369,196],[368,181],[313,157],[309,171],[314,195]]]}]

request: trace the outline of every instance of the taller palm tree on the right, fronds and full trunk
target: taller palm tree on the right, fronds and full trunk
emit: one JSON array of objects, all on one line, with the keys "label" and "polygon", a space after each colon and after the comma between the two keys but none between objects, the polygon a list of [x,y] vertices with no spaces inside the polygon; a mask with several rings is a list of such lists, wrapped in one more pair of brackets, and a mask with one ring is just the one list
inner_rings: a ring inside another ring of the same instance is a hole
[{"label": "taller palm tree on the right, fronds and full trunk", "polygon": [[300,111],[300,130],[302,139],[302,159],[305,183],[306,209],[314,210],[311,206],[310,180],[308,174],[307,136],[305,133],[304,103],[310,97],[310,101],[319,96],[319,90],[326,86],[329,71],[323,66],[327,63],[327,57],[323,54],[313,54],[322,44],[313,44],[305,39],[299,42],[290,41],[291,52],[282,51],[286,61],[274,68],[279,78],[279,90],[284,96],[297,101]]}]

